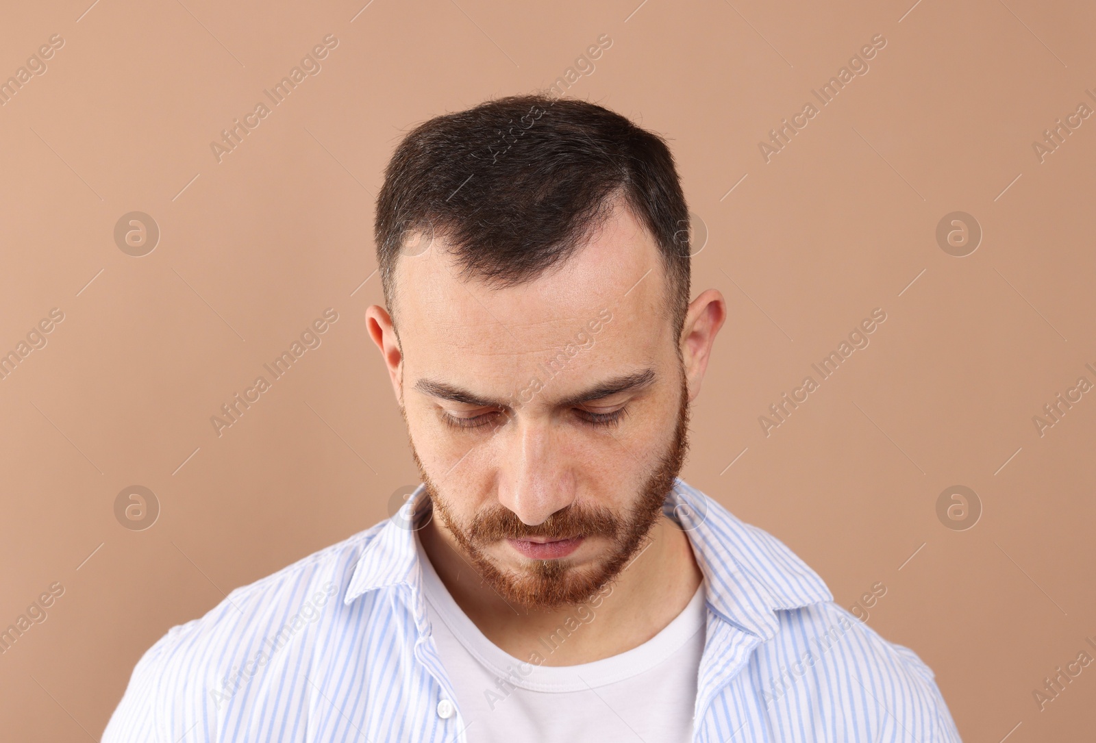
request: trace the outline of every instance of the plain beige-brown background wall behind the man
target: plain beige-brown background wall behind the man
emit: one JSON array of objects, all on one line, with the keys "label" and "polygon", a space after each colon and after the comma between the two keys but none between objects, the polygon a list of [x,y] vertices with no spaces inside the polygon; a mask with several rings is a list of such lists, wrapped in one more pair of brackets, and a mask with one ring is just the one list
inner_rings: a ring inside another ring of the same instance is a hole
[{"label": "plain beige-brown background wall behind the man", "polygon": [[[0,107],[0,351],[65,319],[0,380],[0,628],[65,593],[0,655],[3,736],[98,740],[169,627],[387,516],[414,469],[363,320],[381,170],[415,123],[545,88],[608,34],[568,94],[671,139],[710,235],[695,289],[730,309],[686,479],[843,605],[882,582],[869,624],[935,670],[966,740],[1091,738],[1096,666],[1043,711],[1032,690],[1096,636],[1096,392],[1042,437],[1031,419],[1096,382],[1096,118],[1044,162],[1031,145],[1096,106],[1096,8],[364,1],[4,8],[0,80],[65,44]],[[210,141],[327,34],[322,71],[218,163]],[[870,71],[766,163],[758,141],[876,34]],[[144,258],[113,237],[134,210],[161,231]],[[936,242],[955,210],[984,230],[964,258]],[[329,307],[322,345],[218,437]],[[758,415],[876,307],[870,346],[766,437]],[[114,514],[134,484],[161,508],[140,531]],[[936,514],[956,484],[983,507],[962,531]]]}]

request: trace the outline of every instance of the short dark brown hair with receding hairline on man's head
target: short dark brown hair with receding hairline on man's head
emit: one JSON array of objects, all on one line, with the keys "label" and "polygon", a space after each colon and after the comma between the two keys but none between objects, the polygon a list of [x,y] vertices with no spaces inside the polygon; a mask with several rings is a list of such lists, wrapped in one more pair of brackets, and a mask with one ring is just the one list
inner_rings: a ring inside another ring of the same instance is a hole
[{"label": "short dark brown hair with receding hairline on man's head", "polygon": [[395,310],[393,272],[411,232],[444,236],[466,277],[514,286],[566,261],[618,198],[659,245],[680,333],[688,207],[659,135],[603,106],[546,95],[431,118],[397,147],[377,195],[385,300]]}]

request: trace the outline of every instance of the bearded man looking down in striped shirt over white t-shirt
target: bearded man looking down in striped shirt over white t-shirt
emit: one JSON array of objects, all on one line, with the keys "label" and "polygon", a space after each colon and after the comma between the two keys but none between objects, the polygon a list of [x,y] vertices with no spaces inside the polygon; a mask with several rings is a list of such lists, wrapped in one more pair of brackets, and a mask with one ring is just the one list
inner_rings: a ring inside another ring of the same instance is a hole
[{"label": "bearded man looking down in striped shirt over white t-shirt", "polygon": [[422,485],[138,663],[116,741],[958,741],[933,673],[677,479],[726,316],[663,140],[515,96],[400,144],[366,312]]}]

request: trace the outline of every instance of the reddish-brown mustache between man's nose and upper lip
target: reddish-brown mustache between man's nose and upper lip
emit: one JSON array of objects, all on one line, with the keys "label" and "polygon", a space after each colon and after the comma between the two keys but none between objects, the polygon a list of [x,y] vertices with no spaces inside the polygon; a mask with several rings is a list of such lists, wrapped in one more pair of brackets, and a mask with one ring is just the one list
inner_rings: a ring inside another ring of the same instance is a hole
[{"label": "reddish-brown mustache between man's nose and upper lip", "polygon": [[604,507],[576,506],[561,508],[536,526],[522,522],[510,508],[501,505],[477,514],[467,528],[469,541],[489,544],[502,539],[569,539],[571,537],[608,537],[615,539],[624,523]]}]

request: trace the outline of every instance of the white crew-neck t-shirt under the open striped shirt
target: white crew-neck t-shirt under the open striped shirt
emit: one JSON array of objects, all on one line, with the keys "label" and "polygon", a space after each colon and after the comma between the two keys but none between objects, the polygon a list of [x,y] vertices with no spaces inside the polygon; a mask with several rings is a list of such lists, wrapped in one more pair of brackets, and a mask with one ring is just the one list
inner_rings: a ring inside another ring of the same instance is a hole
[{"label": "white crew-neck t-shirt under the open striped shirt", "polygon": [[[434,641],[471,743],[690,740],[705,641],[704,583],[673,621],[637,648],[593,663],[536,665],[536,658],[549,659],[567,641],[567,627],[578,633],[596,621],[596,609],[576,607],[571,621],[534,642],[526,658],[514,658],[460,610],[418,538],[415,545]],[[438,713],[449,717],[446,704]]]}]

